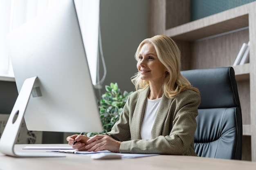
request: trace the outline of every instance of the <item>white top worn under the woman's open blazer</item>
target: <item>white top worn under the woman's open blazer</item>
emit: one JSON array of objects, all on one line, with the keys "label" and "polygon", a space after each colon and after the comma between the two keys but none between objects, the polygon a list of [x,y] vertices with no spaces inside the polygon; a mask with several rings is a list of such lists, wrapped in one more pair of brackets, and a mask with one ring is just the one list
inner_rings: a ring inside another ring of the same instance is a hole
[{"label": "white top worn under the woman's open blazer", "polygon": [[141,139],[151,139],[151,130],[161,99],[162,97],[154,100],[147,99],[144,118],[140,129]]}]

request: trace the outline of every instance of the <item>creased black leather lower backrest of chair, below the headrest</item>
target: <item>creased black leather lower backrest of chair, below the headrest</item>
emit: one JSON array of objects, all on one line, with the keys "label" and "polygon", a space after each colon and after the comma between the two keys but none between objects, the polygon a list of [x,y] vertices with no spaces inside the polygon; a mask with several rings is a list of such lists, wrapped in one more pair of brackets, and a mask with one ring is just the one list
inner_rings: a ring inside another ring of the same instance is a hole
[{"label": "creased black leather lower backrest of chair, below the headrest", "polygon": [[199,109],[195,152],[200,157],[241,159],[241,126],[238,108]]}]

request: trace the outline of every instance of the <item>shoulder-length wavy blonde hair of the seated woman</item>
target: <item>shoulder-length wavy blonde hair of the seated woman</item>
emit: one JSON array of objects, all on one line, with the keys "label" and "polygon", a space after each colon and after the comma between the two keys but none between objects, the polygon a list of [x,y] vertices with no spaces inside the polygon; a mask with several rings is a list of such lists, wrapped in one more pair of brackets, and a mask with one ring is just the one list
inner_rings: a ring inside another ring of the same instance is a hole
[{"label": "shoulder-length wavy blonde hair of the seated woman", "polygon": [[[168,70],[163,84],[163,91],[166,97],[173,98],[185,89],[191,89],[199,93],[198,89],[192,87],[190,82],[180,73],[180,50],[170,37],[166,35],[156,35],[143,40],[135,53],[135,59],[137,61],[139,60],[139,52],[146,43],[150,43],[155,47],[158,60],[164,64]],[[137,91],[144,90],[149,86],[148,80],[142,80],[140,78],[139,71],[131,78],[131,81]]]}]

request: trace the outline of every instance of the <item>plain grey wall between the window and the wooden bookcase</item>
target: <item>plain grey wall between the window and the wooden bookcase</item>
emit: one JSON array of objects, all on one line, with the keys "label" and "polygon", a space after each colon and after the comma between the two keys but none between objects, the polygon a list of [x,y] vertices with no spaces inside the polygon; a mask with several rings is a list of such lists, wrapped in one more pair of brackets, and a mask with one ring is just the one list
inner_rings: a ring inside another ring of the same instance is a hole
[{"label": "plain grey wall between the window and the wooden bookcase", "polygon": [[148,38],[148,13],[149,0],[100,1],[102,48],[107,67],[101,93],[110,82],[117,82],[121,91],[134,91],[130,81],[137,72],[134,55],[139,43]]}]

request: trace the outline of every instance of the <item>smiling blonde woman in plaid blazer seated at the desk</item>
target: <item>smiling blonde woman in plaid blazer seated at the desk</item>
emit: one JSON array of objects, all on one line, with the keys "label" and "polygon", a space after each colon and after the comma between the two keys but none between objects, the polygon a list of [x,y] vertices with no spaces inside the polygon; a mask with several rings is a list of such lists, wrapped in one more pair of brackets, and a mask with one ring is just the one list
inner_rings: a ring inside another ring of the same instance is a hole
[{"label": "smiling blonde woman in plaid blazer seated at the desk", "polygon": [[180,73],[180,51],[165,35],[143,40],[135,53],[136,91],[110,132],[67,137],[76,150],[191,155],[200,94]]}]

